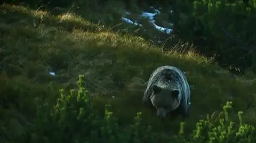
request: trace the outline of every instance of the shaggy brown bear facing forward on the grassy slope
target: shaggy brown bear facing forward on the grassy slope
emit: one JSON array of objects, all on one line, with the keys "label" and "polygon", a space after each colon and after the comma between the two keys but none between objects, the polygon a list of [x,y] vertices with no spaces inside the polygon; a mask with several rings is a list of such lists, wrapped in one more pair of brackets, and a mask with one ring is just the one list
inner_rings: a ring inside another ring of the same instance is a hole
[{"label": "shaggy brown bear facing forward on the grassy slope", "polygon": [[142,104],[154,106],[160,117],[169,112],[181,114],[183,119],[189,117],[190,88],[185,74],[174,66],[157,68],[150,75]]}]

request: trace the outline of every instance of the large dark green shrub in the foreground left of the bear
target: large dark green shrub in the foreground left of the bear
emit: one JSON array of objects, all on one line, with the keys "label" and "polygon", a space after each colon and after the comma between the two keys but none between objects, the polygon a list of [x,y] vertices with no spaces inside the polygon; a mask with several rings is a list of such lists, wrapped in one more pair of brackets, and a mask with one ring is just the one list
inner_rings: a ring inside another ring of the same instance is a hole
[{"label": "large dark green shrub in the foreground left of the bear", "polygon": [[[105,115],[92,108],[91,97],[83,87],[84,76],[79,75],[78,90],[71,89],[66,95],[60,90],[60,97],[53,108],[48,104],[38,106],[37,118],[28,136],[31,142],[141,142],[154,141],[149,136],[150,127],[141,127],[141,112],[135,123],[122,131],[113,116],[110,105]],[[145,134],[146,133],[146,134]]]}]

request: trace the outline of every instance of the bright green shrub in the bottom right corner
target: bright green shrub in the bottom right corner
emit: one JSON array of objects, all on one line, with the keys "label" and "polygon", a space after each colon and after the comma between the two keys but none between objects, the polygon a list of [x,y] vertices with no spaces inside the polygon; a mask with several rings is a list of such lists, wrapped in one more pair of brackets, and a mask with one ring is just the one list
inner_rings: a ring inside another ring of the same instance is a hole
[{"label": "bright green shrub in the bottom right corner", "polygon": [[229,117],[232,102],[223,106],[223,111],[216,115],[215,112],[206,120],[196,124],[191,140],[194,142],[254,142],[255,128],[243,123],[242,114],[238,112],[239,124],[235,124]]}]

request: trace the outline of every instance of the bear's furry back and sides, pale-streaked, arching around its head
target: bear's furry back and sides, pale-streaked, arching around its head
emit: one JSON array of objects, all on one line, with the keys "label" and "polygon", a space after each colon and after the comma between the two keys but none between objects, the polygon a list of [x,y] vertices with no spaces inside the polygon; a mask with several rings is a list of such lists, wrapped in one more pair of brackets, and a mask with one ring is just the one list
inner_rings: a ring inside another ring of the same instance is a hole
[{"label": "bear's furry back and sides, pale-streaked, arching around its head", "polygon": [[142,98],[142,104],[146,107],[152,105],[150,96],[153,93],[153,85],[161,88],[179,89],[185,106],[190,104],[190,88],[185,74],[178,68],[170,65],[160,66],[150,75],[148,86]]}]

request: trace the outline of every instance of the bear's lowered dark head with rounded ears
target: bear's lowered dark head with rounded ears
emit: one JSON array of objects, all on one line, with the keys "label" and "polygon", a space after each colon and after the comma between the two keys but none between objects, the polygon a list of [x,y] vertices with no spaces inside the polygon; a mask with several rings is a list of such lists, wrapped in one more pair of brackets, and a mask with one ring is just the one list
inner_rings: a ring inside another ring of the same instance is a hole
[{"label": "bear's lowered dark head with rounded ears", "polygon": [[175,110],[180,104],[179,94],[178,89],[171,90],[154,85],[150,100],[157,110],[157,116],[165,117],[167,113]]}]

